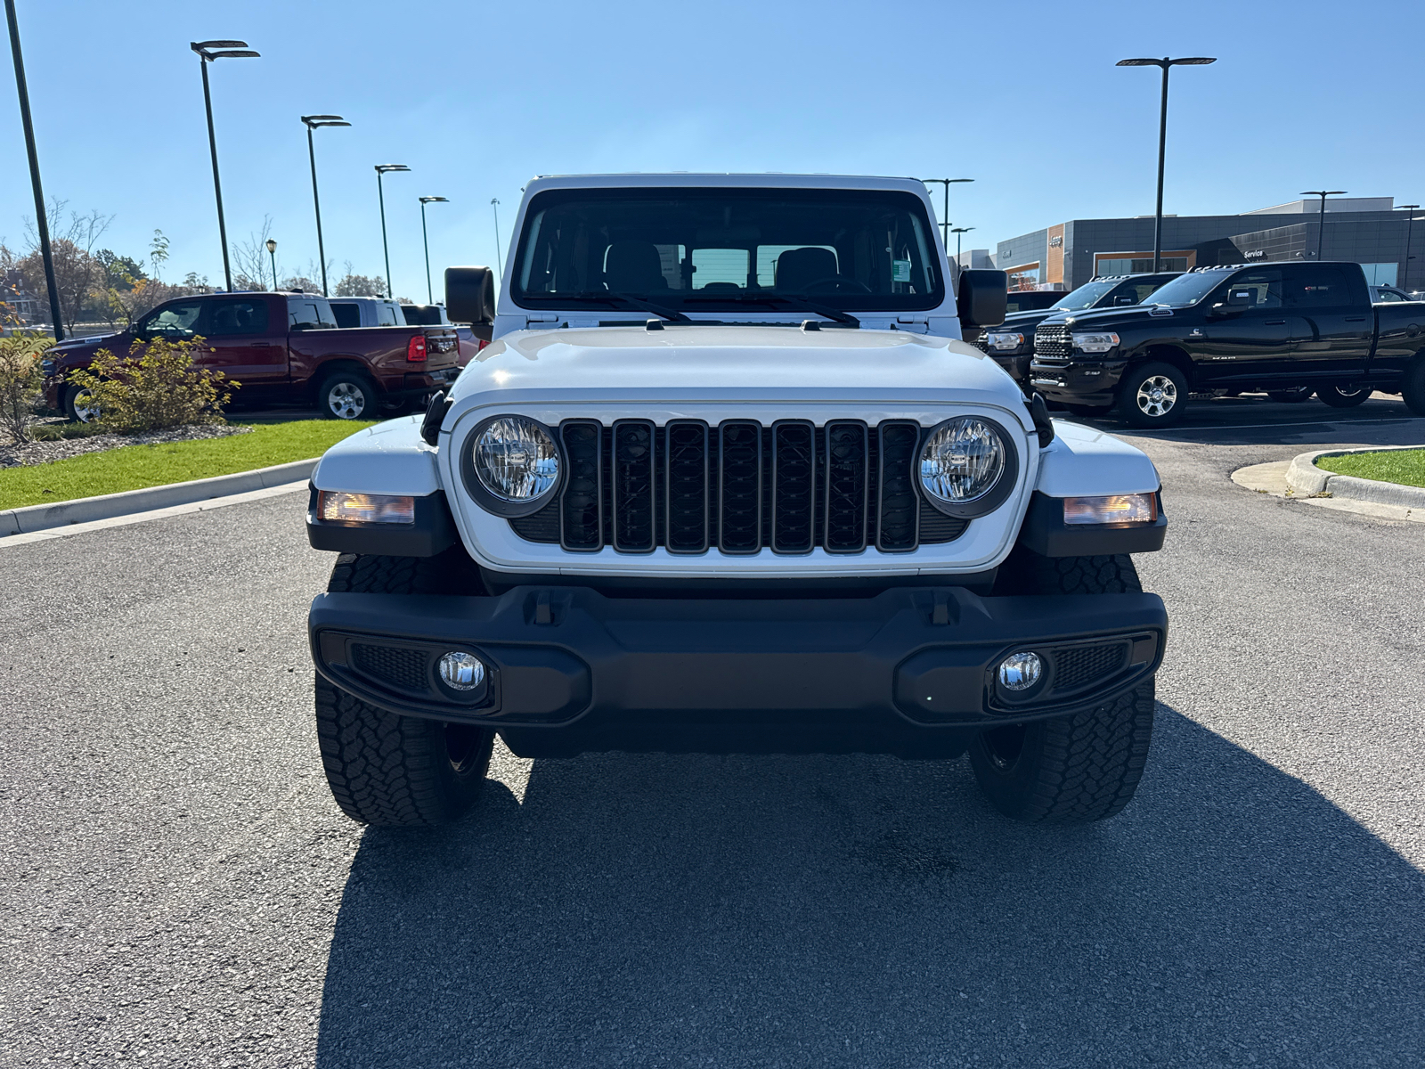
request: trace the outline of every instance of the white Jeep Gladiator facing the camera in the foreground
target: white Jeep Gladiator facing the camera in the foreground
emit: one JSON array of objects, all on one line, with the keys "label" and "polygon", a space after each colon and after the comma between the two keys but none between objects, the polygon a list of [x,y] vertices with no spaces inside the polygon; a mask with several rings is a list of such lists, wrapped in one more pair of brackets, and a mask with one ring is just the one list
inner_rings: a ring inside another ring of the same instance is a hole
[{"label": "white Jeep Gladiator facing the camera in the foreground", "polygon": [[341,808],[465,812],[494,734],[586,751],[969,761],[1010,817],[1119,812],[1167,614],[1153,463],[1050,422],[960,341],[1005,275],[950,265],[925,187],[828,175],[539,178],[493,344],[332,448],[309,630]]}]

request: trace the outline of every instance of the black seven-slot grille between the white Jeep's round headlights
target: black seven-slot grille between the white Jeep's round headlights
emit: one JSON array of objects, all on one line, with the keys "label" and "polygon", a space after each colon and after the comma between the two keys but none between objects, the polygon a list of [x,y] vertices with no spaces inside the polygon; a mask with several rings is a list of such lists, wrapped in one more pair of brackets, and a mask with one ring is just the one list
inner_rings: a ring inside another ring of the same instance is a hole
[{"label": "black seven-slot grille between the white Jeep's round headlights", "polygon": [[969,526],[922,503],[913,475],[921,426],[908,420],[573,419],[559,435],[563,490],[509,523],[523,539],[566,550],[903,553],[953,542]]}]

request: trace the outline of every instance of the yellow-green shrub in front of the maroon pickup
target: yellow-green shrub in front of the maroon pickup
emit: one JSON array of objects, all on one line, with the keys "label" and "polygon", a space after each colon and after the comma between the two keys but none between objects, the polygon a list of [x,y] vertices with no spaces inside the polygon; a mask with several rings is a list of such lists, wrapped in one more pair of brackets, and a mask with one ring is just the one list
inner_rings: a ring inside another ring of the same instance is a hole
[{"label": "yellow-green shrub in front of the maroon pickup", "polygon": [[70,382],[84,391],[87,408],[104,430],[134,435],[190,423],[222,423],[222,406],[232,399],[232,382],[221,371],[195,368],[194,352],[202,338],[135,339],[127,358],[108,349],[94,353],[88,368],[70,372]]}]

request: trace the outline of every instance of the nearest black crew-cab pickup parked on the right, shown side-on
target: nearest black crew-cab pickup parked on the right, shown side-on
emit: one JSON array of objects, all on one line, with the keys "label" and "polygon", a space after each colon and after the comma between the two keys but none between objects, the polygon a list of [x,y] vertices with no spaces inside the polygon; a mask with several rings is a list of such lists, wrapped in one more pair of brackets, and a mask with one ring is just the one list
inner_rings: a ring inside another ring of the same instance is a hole
[{"label": "nearest black crew-cab pickup parked on the right, shown side-on", "polygon": [[1056,314],[1029,383],[1076,415],[1168,426],[1190,393],[1315,391],[1351,408],[1401,393],[1425,416],[1425,301],[1371,302],[1359,264],[1198,268],[1136,308]]}]

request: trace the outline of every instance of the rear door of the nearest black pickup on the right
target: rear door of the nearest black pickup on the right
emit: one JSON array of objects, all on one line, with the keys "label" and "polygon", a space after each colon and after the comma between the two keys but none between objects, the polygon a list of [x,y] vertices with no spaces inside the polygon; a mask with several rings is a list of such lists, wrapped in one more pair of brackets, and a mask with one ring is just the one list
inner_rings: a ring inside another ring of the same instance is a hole
[{"label": "rear door of the nearest black pickup on the right", "polygon": [[1282,275],[1294,342],[1291,375],[1342,385],[1364,375],[1375,328],[1365,288],[1352,286],[1347,272],[1331,264],[1288,265]]}]

